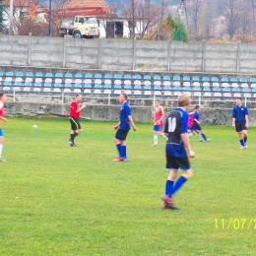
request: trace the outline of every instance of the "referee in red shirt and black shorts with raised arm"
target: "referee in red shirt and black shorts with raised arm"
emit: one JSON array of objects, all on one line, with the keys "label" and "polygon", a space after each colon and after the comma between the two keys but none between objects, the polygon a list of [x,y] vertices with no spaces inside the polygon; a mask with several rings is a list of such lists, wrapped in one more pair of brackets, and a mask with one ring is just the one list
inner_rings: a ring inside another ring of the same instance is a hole
[{"label": "referee in red shirt and black shorts with raised arm", "polygon": [[85,104],[80,106],[79,103],[81,102],[81,100],[82,96],[76,95],[76,98],[70,104],[69,120],[71,123],[71,134],[68,141],[71,147],[78,147],[75,144],[75,138],[82,132],[79,118],[81,115],[81,111],[87,106]]}]

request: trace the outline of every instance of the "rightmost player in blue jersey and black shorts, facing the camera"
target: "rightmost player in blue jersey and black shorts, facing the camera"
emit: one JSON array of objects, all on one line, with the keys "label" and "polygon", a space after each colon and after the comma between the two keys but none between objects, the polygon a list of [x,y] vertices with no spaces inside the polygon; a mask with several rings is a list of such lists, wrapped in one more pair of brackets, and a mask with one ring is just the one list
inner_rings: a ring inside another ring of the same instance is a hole
[{"label": "rightmost player in blue jersey and black shorts, facing the camera", "polygon": [[[232,110],[232,127],[235,127],[238,133],[241,150],[246,149],[247,146],[247,128],[249,126],[249,111],[245,105],[242,104],[240,97],[236,98],[236,106]],[[243,138],[242,138],[243,137]]]}]

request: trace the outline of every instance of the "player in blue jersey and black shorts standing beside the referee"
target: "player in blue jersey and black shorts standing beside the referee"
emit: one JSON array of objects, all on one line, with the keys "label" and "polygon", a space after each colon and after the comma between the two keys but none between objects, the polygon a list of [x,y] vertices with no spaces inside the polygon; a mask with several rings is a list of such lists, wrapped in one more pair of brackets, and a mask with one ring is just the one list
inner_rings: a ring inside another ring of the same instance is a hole
[{"label": "player in blue jersey and black shorts standing beside the referee", "polygon": [[114,127],[114,130],[117,130],[115,134],[114,142],[115,142],[119,157],[114,161],[127,160],[125,140],[130,130],[130,124],[132,125],[132,128],[134,131],[137,130],[136,126],[134,125],[133,118],[131,116],[131,109],[127,102],[127,98],[128,96],[125,93],[122,93],[119,96],[119,101],[122,103],[122,107],[120,110],[120,122]]}]

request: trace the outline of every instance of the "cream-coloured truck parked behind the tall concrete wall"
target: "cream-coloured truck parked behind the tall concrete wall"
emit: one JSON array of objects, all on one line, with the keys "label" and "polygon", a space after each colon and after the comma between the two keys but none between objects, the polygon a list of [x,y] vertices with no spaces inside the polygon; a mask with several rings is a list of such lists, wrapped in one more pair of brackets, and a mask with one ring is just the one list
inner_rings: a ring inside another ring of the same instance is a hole
[{"label": "cream-coloured truck parked behind the tall concrete wall", "polygon": [[74,38],[93,39],[99,37],[99,26],[95,16],[75,16],[62,22],[59,33],[62,37],[71,35]]}]

